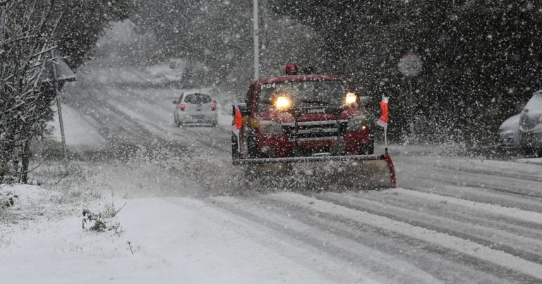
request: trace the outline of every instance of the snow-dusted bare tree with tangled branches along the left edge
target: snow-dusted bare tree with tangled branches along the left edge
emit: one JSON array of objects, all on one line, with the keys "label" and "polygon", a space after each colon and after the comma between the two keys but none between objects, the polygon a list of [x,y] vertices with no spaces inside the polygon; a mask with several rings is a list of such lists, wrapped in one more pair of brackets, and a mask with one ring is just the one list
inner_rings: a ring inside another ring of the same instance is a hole
[{"label": "snow-dusted bare tree with tangled branches along the left edge", "polygon": [[[52,118],[56,89],[42,82],[52,50],[76,69],[131,0],[0,0],[0,183],[27,180],[30,143]],[[64,15],[64,16],[63,16]]]}]

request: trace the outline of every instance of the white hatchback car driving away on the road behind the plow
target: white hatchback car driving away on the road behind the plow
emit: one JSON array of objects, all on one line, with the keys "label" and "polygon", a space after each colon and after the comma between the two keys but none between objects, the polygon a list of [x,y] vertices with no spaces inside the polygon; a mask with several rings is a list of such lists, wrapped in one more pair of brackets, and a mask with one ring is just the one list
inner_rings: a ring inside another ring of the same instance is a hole
[{"label": "white hatchback car driving away on the road behind the plow", "polygon": [[179,100],[173,101],[175,125],[205,124],[216,126],[218,123],[217,101],[208,92],[186,92]]}]

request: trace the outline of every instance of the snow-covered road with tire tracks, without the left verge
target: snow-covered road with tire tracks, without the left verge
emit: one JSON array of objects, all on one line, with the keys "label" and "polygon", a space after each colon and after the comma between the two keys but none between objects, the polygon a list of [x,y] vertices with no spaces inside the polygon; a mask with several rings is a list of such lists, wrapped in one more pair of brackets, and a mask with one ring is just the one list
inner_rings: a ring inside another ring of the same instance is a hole
[{"label": "snow-covered road with tire tracks, without the left verge", "polygon": [[[128,199],[119,220],[159,283],[542,283],[540,165],[392,147],[397,189],[254,191],[231,166],[227,114],[176,128],[179,90],[71,92],[127,161],[95,161],[96,178]],[[155,159],[127,159],[138,149]]]}]

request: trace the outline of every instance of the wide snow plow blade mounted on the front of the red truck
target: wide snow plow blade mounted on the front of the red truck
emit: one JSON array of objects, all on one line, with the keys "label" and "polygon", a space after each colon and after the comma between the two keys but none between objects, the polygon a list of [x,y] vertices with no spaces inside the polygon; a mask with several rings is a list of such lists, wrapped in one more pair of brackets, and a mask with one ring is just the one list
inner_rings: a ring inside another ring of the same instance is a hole
[{"label": "wide snow plow blade mounted on the front of the red truck", "polygon": [[253,166],[259,175],[282,171],[284,176],[320,177],[332,183],[347,183],[359,188],[396,187],[395,166],[389,154],[356,156],[307,156],[267,159],[235,159],[234,165]]}]

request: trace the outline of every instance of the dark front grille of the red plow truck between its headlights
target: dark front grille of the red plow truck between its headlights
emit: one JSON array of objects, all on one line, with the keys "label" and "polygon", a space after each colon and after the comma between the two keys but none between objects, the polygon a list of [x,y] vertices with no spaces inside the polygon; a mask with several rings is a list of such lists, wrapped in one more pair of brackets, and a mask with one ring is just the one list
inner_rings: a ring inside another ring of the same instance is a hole
[{"label": "dark front grille of the red plow truck between its headlights", "polygon": [[[316,140],[335,140],[337,135],[344,133],[347,129],[348,121],[307,121],[298,123],[298,141],[316,141]],[[296,140],[296,125],[295,123],[283,123],[284,133],[290,141]]]}]

